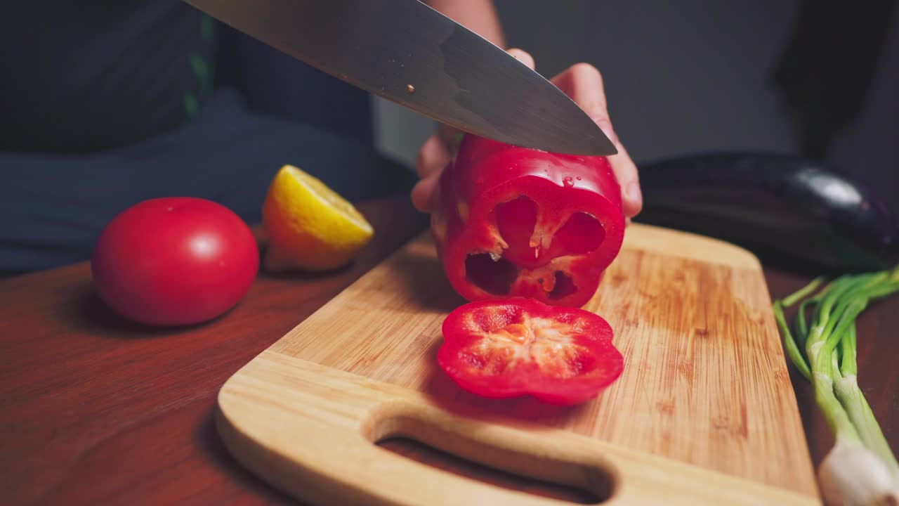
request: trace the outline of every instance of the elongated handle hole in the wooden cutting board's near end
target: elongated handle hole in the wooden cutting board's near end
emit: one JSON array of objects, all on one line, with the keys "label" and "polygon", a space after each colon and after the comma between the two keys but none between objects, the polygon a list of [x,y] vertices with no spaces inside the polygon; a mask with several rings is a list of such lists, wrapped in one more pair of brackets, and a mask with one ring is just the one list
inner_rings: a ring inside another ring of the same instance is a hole
[{"label": "elongated handle hole in the wooden cutting board's near end", "polygon": [[613,471],[530,453],[512,442],[469,438],[417,417],[372,417],[364,427],[366,438],[396,455],[505,489],[538,490],[541,496],[575,504],[601,504],[615,491]]}]

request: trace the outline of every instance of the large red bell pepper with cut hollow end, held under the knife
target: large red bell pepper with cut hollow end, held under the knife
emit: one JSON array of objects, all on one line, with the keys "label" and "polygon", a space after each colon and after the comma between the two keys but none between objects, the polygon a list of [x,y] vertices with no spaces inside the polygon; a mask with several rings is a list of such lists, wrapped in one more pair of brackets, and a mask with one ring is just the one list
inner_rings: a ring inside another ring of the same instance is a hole
[{"label": "large red bell pepper with cut hollow end, held under the knife", "polygon": [[580,307],[621,248],[621,190],[605,157],[467,135],[438,185],[433,236],[469,301],[519,295]]}]

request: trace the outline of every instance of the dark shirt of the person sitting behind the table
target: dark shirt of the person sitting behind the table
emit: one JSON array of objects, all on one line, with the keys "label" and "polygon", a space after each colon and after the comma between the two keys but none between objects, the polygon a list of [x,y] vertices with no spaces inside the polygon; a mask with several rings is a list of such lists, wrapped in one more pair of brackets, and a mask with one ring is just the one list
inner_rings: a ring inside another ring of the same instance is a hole
[{"label": "dark shirt of the person sitting behind the table", "polygon": [[0,151],[84,154],[190,122],[214,23],[181,0],[36,0],[0,21]]}]

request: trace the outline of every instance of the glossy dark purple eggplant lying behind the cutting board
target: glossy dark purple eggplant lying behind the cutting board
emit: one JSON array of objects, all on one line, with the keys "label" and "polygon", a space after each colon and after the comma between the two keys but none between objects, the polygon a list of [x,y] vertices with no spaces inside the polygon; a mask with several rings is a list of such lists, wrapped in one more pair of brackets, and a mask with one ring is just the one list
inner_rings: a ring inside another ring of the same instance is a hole
[{"label": "glossy dark purple eggplant lying behind the cutting board", "polygon": [[724,239],[809,273],[893,267],[899,229],[872,189],[819,163],[726,152],[641,164],[634,221]]}]

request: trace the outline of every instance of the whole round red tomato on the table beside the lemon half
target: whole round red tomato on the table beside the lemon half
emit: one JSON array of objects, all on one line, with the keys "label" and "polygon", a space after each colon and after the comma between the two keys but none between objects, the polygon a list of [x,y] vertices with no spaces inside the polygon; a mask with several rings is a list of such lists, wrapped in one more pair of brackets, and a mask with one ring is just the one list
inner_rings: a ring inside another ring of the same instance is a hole
[{"label": "whole round red tomato on the table beside the lemon half", "polygon": [[93,249],[103,301],[134,321],[187,325],[227,312],[253,284],[259,249],[227,207],[190,197],[152,199],[121,212]]}]

